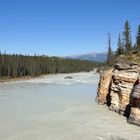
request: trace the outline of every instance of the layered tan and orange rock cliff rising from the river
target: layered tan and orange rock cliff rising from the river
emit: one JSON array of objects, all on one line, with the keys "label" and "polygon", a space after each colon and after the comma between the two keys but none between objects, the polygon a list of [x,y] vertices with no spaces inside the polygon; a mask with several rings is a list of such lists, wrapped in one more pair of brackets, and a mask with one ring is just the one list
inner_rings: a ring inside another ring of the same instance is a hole
[{"label": "layered tan and orange rock cliff rising from the river", "polygon": [[97,89],[97,102],[124,115],[128,123],[140,126],[140,66],[116,64],[103,71]]}]

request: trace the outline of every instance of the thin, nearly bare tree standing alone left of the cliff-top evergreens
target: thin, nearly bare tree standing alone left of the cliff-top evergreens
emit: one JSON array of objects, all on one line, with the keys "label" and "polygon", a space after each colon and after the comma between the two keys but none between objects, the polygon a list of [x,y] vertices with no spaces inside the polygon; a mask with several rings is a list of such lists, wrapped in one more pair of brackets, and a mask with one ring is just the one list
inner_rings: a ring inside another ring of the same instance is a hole
[{"label": "thin, nearly bare tree standing alone left of the cliff-top evergreens", "polygon": [[108,53],[107,53],[107,64],[111,65],[112,64],[112,59],[113,59],[113,51],[111,49],[111,37],[110,33],[108,35]]}]

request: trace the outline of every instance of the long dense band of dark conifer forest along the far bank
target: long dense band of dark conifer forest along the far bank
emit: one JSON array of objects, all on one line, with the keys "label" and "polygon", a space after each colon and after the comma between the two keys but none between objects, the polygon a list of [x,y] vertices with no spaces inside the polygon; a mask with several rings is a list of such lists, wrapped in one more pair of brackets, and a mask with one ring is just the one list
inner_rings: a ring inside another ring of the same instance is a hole
[{"label": "long dense band of dark conifer forest along the far bank", "polygon": [[96,62],[59,57],[0,53],[0,77],[22,77],[50,73],[90,71],[99,65]]}]

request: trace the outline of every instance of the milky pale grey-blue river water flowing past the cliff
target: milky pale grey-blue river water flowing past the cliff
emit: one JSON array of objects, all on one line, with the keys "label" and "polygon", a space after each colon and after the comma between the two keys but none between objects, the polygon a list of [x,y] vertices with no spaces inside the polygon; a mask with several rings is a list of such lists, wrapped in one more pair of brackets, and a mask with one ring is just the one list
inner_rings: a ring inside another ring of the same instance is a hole
[{"label": "milky pale grey-blue river water flowing past the cliff", "polygon": [[140,140],[140,127],[97,105],[98,80],[91,72],[0,84],[0,140]]}]

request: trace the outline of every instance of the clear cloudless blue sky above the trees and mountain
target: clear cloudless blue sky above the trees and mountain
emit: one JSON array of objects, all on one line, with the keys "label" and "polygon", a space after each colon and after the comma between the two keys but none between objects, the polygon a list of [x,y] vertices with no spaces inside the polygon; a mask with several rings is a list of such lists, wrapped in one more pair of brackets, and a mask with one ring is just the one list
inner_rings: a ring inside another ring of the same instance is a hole
[{"label": "clear cloudless blue sky above the trees and mountain", "polygon": [[58,56],[104,52],[108,32],[115,50],[126,19],[134,42],[140,0],[1,0],[0,50]]}]

